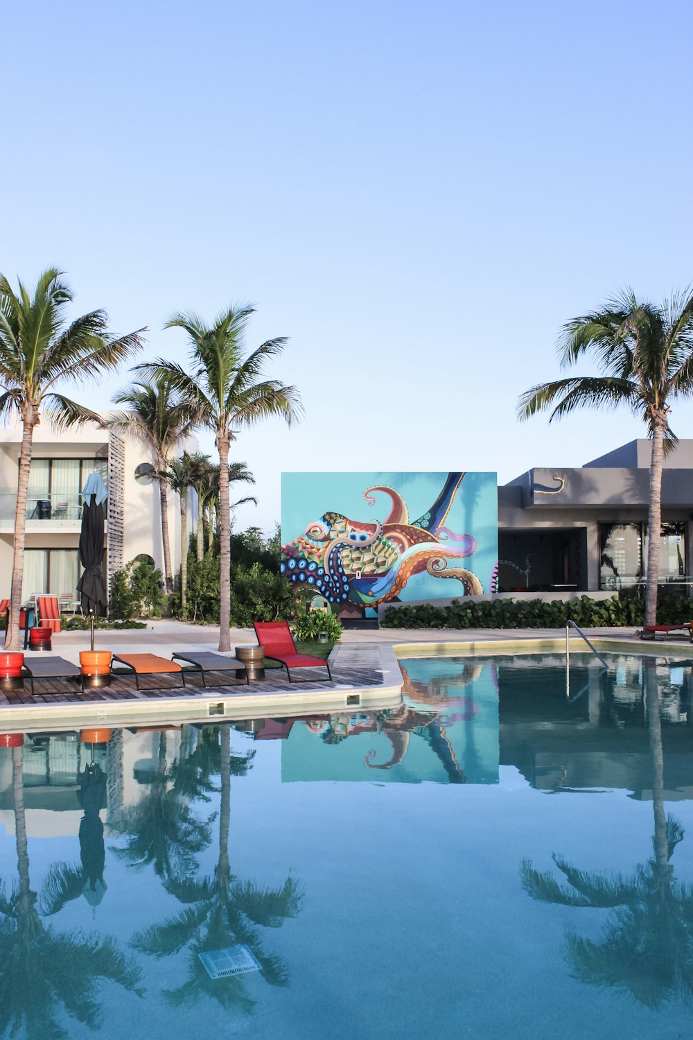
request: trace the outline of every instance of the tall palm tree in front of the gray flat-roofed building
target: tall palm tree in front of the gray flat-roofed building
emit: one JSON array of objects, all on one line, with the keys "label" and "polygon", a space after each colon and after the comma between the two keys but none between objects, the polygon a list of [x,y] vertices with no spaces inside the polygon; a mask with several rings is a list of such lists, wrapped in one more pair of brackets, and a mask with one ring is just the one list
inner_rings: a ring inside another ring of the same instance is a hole
[{"label": "tall palm tree in front of the gray flat-roofed building", "polygon": [[631,289],[605,308],[568,321],[558,342],[564,366],[583,355],[601,372],[542,383],[519,398],[517,414],[527,419],[551,409],[549,421],[579,408],[613,409],[627,405],[647,424],[652,442],[647,510],[645,624],[657,622],[659,535],[662,528],[662,466],[676,441],[669,426],[671,401],[693,395],[693,293],[674,293],[661,307],[642,303]]}]

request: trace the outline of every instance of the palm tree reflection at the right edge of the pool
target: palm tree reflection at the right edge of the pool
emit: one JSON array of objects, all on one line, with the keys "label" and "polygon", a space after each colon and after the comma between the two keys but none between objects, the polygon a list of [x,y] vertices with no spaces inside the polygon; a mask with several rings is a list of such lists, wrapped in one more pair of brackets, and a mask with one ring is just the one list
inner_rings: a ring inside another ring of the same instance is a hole
[{"label": "palm tree reflection at the right edge of the pool", "polygon": [[554,854],[569,887],[530,860],[521,865],[522,883],[535,900],[572,907],[613,909],[598,942],[575,932],[566,936],[575,979],[630,992],[648,1008],[676,997],[693,998],[693,887],[677,882],[671,856],[684,830],[664,811],[664,756],[655,661],[644,661],[643,682],[652,760],[654,858],[635,874],[589,874]]}]

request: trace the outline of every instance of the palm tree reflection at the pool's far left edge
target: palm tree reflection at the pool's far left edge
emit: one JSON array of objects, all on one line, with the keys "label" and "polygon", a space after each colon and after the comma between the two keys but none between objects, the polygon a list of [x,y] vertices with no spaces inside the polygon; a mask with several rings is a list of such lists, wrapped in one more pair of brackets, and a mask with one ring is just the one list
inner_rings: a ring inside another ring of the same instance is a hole
[{"label": "palm tree reflection at the pool's far left edge", "polygon": [[12,748],[12,792],[19,885],[9,893],[0,885],[0,1035],[23,1030],[29,1040],[69,1040],[58,1008],[98,1030],[99,980],[139,993],[140,973],[113,939],[44,925],[29,882],[21,748]]}]

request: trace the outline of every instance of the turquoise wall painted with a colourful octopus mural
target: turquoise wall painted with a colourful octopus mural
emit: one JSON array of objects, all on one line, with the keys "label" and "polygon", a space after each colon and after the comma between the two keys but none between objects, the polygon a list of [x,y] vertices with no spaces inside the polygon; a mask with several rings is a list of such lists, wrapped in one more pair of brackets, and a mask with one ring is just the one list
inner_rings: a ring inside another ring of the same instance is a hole
[{"label": "turquoise wall painted with a colourful octopus mural", "polygon": [[496,473],[284,473],[282,570],[334,605],[495,591]]}]

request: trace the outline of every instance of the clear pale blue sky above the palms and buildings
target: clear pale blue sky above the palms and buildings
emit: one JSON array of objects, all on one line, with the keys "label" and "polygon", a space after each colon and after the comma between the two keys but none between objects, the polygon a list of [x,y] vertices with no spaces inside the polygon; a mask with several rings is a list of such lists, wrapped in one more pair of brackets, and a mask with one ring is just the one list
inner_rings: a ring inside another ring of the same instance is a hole
[{"label": "clear pale blue sky above the palms and buildings", "polygon": [[234,300],[249,346],[291,337],[274,374],[305,417],[239,439],[239,525],[278,518],[283,469],[505,480],[641,434],[514,409],[563,321],[693,280],[689,2],[27,0],[0,24],[0,270],[57,264],[76,312],[150,327],[145,356],[183,359],[172,311]]}]

